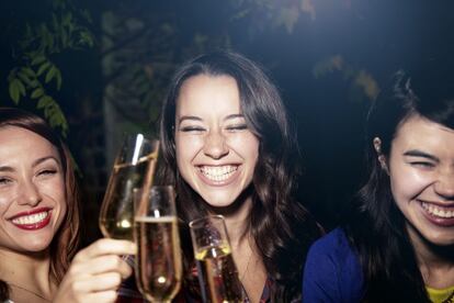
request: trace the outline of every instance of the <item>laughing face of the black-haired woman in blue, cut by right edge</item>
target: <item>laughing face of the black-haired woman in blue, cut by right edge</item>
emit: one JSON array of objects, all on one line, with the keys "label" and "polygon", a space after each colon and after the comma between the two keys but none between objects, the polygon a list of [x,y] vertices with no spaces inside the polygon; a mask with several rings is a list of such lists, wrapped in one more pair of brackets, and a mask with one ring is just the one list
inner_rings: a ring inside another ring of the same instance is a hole
[{"label": "laughing face of the black-haired woman in blue, cut by right edge", "polygon": [[454,130],[411,116],[391,142],[388,171],[410,235],[453,245]]}]

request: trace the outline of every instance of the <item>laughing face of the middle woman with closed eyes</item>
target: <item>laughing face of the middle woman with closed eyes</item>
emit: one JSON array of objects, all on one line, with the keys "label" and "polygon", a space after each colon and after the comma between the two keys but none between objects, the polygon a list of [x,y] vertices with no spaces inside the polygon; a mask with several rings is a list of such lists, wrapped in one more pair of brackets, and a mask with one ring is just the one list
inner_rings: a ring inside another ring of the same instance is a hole
[{"label": "laughing face of the middle woman with closed eyes", "polygon": [[237,82],[198,75],[177,100],[177,164],[183,179],[209,205],[230,205],[251,183],[259,139],[248,130]]}]

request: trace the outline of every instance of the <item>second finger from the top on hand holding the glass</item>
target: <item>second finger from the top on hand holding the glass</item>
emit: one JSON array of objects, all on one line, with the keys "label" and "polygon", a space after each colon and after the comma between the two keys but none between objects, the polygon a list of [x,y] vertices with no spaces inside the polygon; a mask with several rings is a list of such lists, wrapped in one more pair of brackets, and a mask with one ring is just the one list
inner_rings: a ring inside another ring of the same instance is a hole
[{"label": "second finger from the top on hand holding the glass", "polygon": [[126,262],[126,260],[122,259],[122,257],[115,255],[106,255],[84,261],[79,260],[77,263],[73,263],[69,269],[69,274],[94,276],[109,271],[118,272],[122,278],[125,279],[130,276],[133,269]]}]

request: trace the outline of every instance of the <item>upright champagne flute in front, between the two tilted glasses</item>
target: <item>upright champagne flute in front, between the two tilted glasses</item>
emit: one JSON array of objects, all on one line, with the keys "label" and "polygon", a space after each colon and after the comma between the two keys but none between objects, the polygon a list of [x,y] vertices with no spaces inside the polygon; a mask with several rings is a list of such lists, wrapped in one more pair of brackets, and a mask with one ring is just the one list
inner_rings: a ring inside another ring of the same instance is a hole
[{"label": "upright champagne flute in front, between the two tilted glasses", "polygon": [[144,188],[136,200],[137,285],[148,301],[170,302],[180,290],[182,274],[174,190]]}]

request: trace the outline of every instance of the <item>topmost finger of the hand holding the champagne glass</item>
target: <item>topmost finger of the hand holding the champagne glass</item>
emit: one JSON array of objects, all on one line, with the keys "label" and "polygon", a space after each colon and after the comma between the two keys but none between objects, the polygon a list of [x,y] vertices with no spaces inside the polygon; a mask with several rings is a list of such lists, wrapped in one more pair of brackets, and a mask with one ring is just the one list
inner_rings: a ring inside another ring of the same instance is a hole
[{"label": "topmost finger of the hand holding the champagne glass", "polygon": [[133,242],[102,238],[80,250],[75,261],[84,261],[102,255],[134,255],[136,250]]}]

